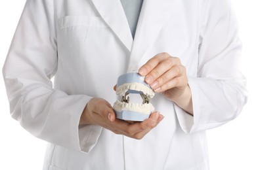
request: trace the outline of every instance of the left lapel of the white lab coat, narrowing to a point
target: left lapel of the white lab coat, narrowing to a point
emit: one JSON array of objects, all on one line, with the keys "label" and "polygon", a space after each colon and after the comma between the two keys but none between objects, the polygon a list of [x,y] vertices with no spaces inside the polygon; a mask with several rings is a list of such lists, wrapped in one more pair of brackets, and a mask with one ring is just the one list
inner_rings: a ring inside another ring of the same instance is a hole
[{"label": "left lapel of the white lab coat, narrowing to a point", "polygon": [[120,0],[92,0],[103,20],[119,40],[131,51],[133,37]]}]

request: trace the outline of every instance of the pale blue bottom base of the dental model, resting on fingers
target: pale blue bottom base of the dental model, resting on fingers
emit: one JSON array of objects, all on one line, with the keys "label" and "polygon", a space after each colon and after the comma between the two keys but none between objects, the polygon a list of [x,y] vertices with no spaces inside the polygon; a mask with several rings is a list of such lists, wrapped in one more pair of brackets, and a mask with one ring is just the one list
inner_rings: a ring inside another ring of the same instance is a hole
[{"label": "pale blue bottom base of the dental model, resting on fingers", "polygon": [[150,114],[142,114],[140,112],[134,112],[129,110],[122,110],[121,112],[116,112],[116,118],[121,120],[131,120],[131,121],[138,121],[142,122],[146,120]]}]

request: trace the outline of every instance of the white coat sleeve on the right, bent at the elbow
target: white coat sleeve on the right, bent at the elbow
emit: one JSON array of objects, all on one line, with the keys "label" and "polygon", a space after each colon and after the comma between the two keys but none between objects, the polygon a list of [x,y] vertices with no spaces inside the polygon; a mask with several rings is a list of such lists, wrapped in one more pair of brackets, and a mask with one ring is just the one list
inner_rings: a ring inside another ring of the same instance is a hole
[{"label": "white coat sleeve on the right, bent at the elbow", "polygon": [[245,78],[238,68],[242,44],[230,1],[203,1],[197,76],[188,78],[194,116],[175,105],[186,133],[233,120],[247,101]]}]

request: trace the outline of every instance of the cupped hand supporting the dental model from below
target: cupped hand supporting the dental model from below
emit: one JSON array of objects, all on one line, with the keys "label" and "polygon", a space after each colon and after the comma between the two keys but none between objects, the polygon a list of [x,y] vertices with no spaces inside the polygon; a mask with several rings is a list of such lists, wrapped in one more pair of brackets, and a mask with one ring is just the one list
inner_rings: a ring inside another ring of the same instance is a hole
[{"label": "cupped hand supporting the dental model from below", "polygon": [[119,120],[116,118],[116,114],[108,101],[93,98],[83,110],[80,125],[95,124],[109,129],[116,134],[125,135],[134,139],[142,139],[161,120],[163,120],[163,116],[159,112],[153,112],[150,118],[143,122],[131,123],[125,120]]}]

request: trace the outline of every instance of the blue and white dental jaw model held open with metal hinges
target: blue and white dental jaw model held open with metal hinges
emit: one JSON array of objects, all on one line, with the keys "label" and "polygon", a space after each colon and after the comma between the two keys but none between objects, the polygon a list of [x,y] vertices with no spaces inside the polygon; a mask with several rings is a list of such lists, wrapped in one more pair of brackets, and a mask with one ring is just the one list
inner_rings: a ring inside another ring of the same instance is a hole
[{"label": "blue and white dental jaw model held open with metal hinges", "polygon": [[[139,94],[142,103],[129,103],[129,93]],[[121,101],[114,103],[116,117],[122,120],[143,121],[148,118],[154,107],[149,103],[155,93],[144,81],[144,76],[139,73],[127,73],[119,76],[116,86],[116,94],[122,96]]]}]

